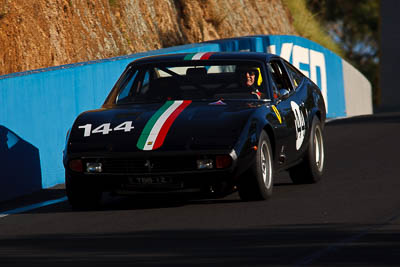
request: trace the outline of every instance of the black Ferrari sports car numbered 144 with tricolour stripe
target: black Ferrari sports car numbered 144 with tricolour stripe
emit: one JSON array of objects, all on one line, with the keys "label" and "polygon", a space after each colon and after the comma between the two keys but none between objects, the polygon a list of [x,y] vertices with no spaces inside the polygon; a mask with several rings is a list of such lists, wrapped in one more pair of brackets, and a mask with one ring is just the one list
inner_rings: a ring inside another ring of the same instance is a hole
[{"label": "black Ferrari sports car numbered 144 with tricolour stripe", "polygon": [[266,53],[184,53],[130,63],[101,108],[80,114],[64,149],[74,208],[103,192],[268,199],[274,174],[324,172],[320,89]]}]

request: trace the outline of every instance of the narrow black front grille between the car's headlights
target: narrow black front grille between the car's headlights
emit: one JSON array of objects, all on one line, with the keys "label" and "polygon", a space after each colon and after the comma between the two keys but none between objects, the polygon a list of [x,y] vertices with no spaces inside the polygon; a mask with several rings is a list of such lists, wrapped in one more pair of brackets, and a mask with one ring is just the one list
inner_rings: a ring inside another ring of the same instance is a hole
[{"label": "narrow black front grille between the car's headlights", "polygon": [[101,162],[103,173],[129,174],[193,171],[197,169],[196,160],[195,157],[98,158],[86,162]]}]

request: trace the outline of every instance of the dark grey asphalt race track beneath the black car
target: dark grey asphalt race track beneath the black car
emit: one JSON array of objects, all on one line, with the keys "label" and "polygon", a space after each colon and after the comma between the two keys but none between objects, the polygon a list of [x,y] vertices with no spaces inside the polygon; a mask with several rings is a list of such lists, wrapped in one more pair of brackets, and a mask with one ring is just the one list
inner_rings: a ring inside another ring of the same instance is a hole
[{"label": "dark grey asphalt race track beneath the black car", "polygon": [[[0,218],[0,266],[400,265],[400,113],[338,120],[325,131],[326,174],[268,201],[107,199]],[[64,195],[44,190],[0,211]]]}]

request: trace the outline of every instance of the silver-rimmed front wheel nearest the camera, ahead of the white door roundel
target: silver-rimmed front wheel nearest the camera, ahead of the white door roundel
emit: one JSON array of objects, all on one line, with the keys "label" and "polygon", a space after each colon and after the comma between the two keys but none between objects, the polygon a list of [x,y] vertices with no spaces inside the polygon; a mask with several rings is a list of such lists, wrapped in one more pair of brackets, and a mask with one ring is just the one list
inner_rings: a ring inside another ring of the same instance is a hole
[{"label": "silver-rimmed front wheel nearest the camera, ahead of the white door roundel", "polygon": [[244,201],[268,199],[274,186],[273,174],[271,144],[268,135],[262,131],[255,162],[239,181],[240,198]]}]

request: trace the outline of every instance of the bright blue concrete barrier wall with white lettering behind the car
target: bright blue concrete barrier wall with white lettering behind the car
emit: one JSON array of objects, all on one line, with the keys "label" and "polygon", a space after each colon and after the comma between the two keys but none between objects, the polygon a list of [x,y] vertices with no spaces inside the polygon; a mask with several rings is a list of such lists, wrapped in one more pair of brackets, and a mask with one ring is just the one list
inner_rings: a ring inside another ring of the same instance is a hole
[{"label": "bright blue concrete barrier wall with white lettering behind the car", "polygon": [[132,60],[176,52],[281,55],[321,88],[328,117],[346,115],[341,59],[295,36],[252,36],[0,76],[0,201],[64,182],[65,135],[82,111],[101,106]]}]

